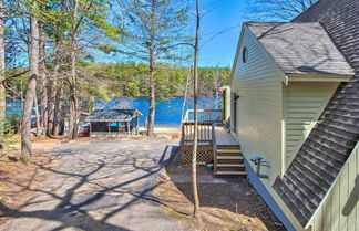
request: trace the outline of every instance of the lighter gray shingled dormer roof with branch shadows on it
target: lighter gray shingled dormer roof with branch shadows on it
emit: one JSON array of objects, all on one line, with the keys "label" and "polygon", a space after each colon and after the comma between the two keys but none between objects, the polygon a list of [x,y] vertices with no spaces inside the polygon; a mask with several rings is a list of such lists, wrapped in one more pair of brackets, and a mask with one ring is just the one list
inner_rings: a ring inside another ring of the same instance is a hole
[{"label": "lighter gray shingled dormer roof with branch shadows on it", "polygon": [[246,22],[286,74],[353,75],[319,22]]}]

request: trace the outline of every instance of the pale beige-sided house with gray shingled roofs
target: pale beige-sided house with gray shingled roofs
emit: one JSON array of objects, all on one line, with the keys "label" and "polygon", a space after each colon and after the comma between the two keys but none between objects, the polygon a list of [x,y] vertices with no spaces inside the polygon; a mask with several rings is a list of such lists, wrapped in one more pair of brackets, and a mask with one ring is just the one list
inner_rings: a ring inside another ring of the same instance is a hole
[{"label": "pale beige-sided house with gray shingled roofs", "polygon": [[248,179],[285,227],[359,231],[359,1],[244,23],[230,92]]}]

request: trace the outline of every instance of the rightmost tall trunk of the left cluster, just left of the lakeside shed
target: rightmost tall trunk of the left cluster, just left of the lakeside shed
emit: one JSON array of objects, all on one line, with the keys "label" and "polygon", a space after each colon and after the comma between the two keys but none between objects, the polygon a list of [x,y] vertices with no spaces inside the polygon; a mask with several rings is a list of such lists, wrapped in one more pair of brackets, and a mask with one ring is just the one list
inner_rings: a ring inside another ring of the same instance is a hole
[{"label": "rightmost tall trunk of the left cluster, just left of the lakeside shed", "polygon": [[70,98],[69,98],[69,134],[70,138],[74,138],[76,134],[78,120],[78,98],[76,98],[76,18],[78,18],[79,0],[74,1],[73,9],[73,28],[71,34],[71,71],[70,71]]}]

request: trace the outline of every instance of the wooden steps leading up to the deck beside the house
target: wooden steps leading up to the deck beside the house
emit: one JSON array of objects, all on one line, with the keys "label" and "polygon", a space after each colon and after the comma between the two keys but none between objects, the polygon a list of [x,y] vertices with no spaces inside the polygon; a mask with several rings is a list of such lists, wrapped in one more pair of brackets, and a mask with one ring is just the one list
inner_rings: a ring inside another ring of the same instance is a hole
[{"label": "wooden steps leading up to the deck beside the house", "polygon": [[215,176],[247,176],[239,145],[217,145],[214,158]]}]

